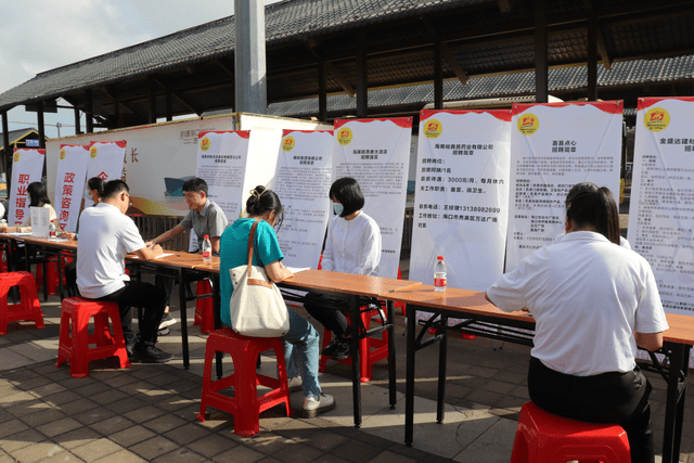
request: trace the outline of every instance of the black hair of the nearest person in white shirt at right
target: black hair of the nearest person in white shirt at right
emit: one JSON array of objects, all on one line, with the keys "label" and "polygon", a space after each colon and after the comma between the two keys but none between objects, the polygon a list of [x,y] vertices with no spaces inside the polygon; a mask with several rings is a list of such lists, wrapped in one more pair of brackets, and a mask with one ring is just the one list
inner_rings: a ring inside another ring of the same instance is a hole
[{"label": "black hair of the nearest person in white shirt at right", "polygon": [[567,219],[576,228],[593,227],[615,244],[619,244],[619,210],[609,189],[583,191],[576,194],[566,207]]}]

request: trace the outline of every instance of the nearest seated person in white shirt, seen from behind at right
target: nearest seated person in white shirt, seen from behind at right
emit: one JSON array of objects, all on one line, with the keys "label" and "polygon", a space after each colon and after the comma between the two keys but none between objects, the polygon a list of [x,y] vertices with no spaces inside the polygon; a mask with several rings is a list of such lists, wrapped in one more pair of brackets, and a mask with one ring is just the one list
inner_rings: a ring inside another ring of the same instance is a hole
[{"label": "nearest seated person in white shirt, seen from behind at right", "polygon": [[535,318],[528,393],[541,409],[625,428],[632,462],[654,461],[648,395],[637,345],[657,350],[668,329],[648,262],[619,244],[609,190],[573,197],[566,235],[487,290],[501,310]]}]

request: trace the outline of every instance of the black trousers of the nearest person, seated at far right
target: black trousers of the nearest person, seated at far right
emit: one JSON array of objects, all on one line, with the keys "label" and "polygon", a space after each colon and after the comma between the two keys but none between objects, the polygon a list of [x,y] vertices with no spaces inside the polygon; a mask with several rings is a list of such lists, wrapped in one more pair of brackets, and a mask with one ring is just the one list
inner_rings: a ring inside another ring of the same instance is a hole
[{"label": "black trousers of the nearest person, seated at far right", "polygon": [[589,423],[616,423],[625,428],[633,463],[653,463],[651,384],[639,366],[627,373],[593,376],[560,373],[530,359],[528,391],[541,409]]}]

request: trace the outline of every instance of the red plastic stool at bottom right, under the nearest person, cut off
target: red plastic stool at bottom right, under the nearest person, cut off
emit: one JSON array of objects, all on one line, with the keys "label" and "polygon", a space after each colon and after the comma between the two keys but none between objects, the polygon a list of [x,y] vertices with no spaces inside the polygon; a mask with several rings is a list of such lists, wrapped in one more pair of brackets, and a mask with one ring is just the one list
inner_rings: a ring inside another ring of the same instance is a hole
[{"label": "red plastic stool at bottom right, under the nearest person, cut off", "polygon": [[511,463],[629,463],[627,432],[616,424],[584,423],[528,402],[520,409]]}]

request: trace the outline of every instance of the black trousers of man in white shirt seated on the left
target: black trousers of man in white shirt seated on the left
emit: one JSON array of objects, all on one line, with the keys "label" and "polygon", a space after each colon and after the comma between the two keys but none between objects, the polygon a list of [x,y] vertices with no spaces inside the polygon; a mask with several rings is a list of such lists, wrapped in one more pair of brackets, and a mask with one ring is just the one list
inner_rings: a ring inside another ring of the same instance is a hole
[{"label": "black trousers of man in white shirt seated on the left", "polygon": [[126,282],[125,287],[97,300],[118,304],[123,335],[126,338],[126,345],[129,347],[136,344],[136,335],[132,331],[132,310],[130,308],[138,307],[143,309],[142,325],[139,326],[139,342],[145,346],[153,346],[156,343],[156,333],[166,307],[162,290],[151,283],[131,281]]}]

